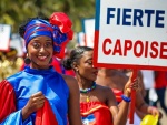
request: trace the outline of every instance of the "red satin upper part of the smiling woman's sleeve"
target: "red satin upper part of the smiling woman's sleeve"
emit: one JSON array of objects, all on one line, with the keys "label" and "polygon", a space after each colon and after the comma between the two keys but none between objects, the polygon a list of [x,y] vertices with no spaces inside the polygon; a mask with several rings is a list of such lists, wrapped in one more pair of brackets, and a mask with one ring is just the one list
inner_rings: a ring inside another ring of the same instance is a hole
[{"label": "red satin upper part of the smiling woman's sleeve", "polygon": [[8,81],[0,83],[0,123],[16,111],[16,94]]}]

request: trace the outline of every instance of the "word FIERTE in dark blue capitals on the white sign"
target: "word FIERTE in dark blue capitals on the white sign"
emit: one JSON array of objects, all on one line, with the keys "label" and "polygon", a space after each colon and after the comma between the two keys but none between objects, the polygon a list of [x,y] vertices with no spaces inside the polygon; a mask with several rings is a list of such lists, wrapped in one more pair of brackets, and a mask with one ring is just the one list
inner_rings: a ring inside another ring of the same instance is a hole
[{"label": "word FIERTE in dark blue capitals on the white sign", "polygon": [[165,10],[107,8],[107,24],[117,25],[165,27]]}]

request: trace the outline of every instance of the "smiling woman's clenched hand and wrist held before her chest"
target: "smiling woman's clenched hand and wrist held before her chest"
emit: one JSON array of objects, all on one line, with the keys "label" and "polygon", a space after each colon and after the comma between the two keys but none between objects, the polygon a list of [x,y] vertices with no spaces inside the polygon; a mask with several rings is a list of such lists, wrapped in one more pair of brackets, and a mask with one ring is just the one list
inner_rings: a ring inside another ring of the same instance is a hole
[{"label": "smiling woman's clenched hand and wrist held before her chest", "polygon": [[33,95],[31,95],[28,103],[22,108],[22,119],[24,121],[26,118],[28,118],[31,113],[41,108],[43,104],[45,95],[42,94],[42,92],[37,92]]}]

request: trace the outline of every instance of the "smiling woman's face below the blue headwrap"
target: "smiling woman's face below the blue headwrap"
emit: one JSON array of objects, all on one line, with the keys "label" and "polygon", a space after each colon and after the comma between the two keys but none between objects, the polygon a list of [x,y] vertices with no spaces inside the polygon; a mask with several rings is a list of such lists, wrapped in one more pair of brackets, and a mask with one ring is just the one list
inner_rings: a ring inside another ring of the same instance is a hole
[{"label": "smiling woman's face below the blue headwrap", "polygon": [[49,61],[51,60],[53,54],[53,45],[51,38],[46,35],[36,37],[29,42],[27,50],[28,55],[31,60],[31,67],[49,67]]}]

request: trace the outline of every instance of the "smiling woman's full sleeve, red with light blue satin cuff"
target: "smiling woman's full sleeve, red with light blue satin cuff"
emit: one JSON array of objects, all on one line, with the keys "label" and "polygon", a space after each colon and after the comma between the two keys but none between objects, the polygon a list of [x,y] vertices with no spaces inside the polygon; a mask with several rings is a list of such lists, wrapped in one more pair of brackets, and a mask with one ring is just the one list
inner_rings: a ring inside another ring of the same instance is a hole
[{"label": "smiling woman's full sleeve, red with light blue satin cuff", "polygon": [[21,111],[16,111],[16,94],[7,81],[0,83],[0,125],[22,125]]}]

